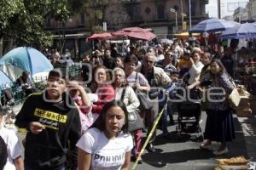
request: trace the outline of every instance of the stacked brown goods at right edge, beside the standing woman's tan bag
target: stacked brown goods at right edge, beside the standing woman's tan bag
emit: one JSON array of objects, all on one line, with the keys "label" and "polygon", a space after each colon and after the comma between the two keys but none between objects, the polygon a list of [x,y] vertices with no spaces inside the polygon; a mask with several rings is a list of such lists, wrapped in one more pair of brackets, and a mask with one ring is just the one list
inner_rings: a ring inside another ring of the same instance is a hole
[{"label": "stacked brown goods at right edge, beside the standing woman's tan bag", "polygon": [[252,110],[250,107],[250,99],[251,94],[247,92],[245,88],[239,87],[237,88],[238,93],[240,94],[241,100],[236,108],[236,115],[237,116],[252,116]]}]

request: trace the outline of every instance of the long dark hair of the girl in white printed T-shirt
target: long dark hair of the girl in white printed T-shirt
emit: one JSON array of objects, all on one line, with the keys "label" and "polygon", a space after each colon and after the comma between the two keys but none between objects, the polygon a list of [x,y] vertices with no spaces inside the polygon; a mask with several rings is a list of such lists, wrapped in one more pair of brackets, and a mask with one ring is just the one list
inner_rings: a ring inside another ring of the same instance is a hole
[{"label": "long dark hair of the girl in white printed T-shirt", "polygon": [[[128,111],[126,109],[125,104],[119,100],[112,100],[106,103],[102,108],[101,115],[97,118],[96,122],[94,122],[91,127],[96,127],[100,131],[106,129],[106,115],[109,108],[118,106],[125,112],[125,125],[122,127],[123,133],[128,133]],[[90,128],[91,128],[90,127]]]}]

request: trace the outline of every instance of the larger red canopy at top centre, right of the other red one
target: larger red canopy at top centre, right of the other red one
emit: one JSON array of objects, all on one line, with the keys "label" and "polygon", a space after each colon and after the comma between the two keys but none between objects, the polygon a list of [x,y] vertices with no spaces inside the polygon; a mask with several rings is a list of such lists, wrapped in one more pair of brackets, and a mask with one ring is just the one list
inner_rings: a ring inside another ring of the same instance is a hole
[{"label": "larger red canopy at top centre, right of the other red one", "polygon": [[149,31],[148,29],[143,29],[140,27],[123,28],[122,30],[112,32],[112,34],[116,37],[127,36],[147,41],[150,41],[156,37],[156,35],[154,35],[154,33]]}]

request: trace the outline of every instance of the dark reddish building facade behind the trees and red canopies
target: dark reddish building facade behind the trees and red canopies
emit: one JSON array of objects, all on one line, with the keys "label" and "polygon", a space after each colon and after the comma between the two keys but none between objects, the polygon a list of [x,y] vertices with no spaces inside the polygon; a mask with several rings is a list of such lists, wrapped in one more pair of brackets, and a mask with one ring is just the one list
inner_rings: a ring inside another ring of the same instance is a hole
[{"label": "dark reddish building facade behind the trees and red canopies", "polygon": [[[139,26],[152,28],[158,36],[166,37],[177,31],[189,31],[189,2],[192,26],[208,18],[205,10],[207,0],[123,0],[122,7],[117,0],[109,0],[103,20],[107,22],[108,31],[126,26]],[[177,12],[177,18],[173,9]],[[85,42],[85,37],[90,35],[91,26],[85,12],[75,14],[64,23],[50,18],[46,29],[55,32],[58,39],[56,46],[60,46],[62,41],[66,48],[74,48],[71,51],[75,56],[81,57],[88,49],[84,48],[90,43]]]}]

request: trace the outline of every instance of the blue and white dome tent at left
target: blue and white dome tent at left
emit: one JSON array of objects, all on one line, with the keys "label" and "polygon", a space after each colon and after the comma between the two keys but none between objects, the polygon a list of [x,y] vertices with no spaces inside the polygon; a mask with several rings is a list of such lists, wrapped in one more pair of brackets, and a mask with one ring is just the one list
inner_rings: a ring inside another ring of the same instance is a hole
[{"label": "blue and white dome tent at left", "polygon": [[38,73],[49,72],[53,65],[44,54],[35,48],[20,47],[14,48],[0,59],[0,67],[13,81],[22,71],[29,71],[31,76]]}]

